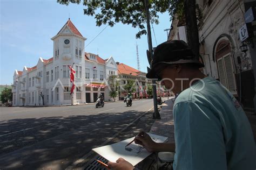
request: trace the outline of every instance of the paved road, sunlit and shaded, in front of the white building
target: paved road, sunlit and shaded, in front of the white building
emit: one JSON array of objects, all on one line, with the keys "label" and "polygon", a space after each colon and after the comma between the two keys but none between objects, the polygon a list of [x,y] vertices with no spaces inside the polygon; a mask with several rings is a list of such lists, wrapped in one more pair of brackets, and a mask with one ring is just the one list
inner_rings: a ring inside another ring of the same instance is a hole
[{"label": "paved road, sunlit and shaded, in front of the white building", "polygon": [[132,107],[116,102],[98,109],[94,104],[0,108],[0,169],[64,169],[139,116],[151,117],[146,111],[152,106],[152,100],[140,100]]}]

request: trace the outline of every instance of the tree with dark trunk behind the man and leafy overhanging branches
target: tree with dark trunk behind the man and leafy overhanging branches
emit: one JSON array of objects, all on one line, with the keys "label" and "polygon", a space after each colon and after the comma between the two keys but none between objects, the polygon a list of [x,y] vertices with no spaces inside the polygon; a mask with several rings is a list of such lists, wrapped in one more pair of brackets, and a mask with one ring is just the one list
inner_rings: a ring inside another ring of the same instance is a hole
[{"label": "tree with dark trunk behind the man and leafy overhanging branches", "polygon": [[[79,4],[83,2],[85,5],[84,15],[95,16],[96,25],[109,24],[111,27],[116,23],[123,23],[138,27],[139,31],[136,38],[140,38],[143,34],[147,34],[144,24],[146,24],[144,0],[141,1],[88,1],[88,0],[57,0],[59,4],[69,5],[69,3]],[[158,24],[158,12],[168,11],[170,20],[174,14],[178,18],[186,19],[186,29],[188,44],[193,52],[199,56],[199,37],[197,27],[197,11],[198,5],[196,0],[151,0],[148,2],[150,9],[150,19],[152,24]],[[100,10],[98,10],[100,9]],[[97,11],[100,11],[96,13]],[[199,58],[198,58],[199,59]]]}]

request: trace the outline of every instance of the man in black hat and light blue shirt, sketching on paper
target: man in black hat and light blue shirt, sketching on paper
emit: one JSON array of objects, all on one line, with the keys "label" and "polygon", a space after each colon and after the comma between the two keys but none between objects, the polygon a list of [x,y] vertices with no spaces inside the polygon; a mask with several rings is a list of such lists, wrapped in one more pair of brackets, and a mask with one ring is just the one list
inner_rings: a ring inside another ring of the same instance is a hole
[{"label": "man in black hat and light blue shirt, sketching on paper", "polygon": [[[206,77],[201,67],[204,65],[184,41],[157,46],[146,76],[161,80],[167,89],[174,83],[172,91],[179,93],[173,104],[175,143],[155,143],[146,134],[137,136],[135,143],[149,152],[175,152],[174,170],[255,169],[255,141],[244,110],[230,91]],[[112,169],[134,169],[123,158],[108,165]]]}]

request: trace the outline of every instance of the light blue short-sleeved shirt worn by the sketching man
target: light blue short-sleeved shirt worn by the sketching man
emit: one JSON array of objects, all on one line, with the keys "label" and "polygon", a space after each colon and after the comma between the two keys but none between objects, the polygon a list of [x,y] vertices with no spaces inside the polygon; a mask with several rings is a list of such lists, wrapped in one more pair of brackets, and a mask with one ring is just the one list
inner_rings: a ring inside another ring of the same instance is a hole
[{"label": "light blue short-sleeved shirt worn by the sketching man", "polygon": [[174,170],[255,170],[251,125],[235,97],[206,77],[179,94],[173,105]]}]

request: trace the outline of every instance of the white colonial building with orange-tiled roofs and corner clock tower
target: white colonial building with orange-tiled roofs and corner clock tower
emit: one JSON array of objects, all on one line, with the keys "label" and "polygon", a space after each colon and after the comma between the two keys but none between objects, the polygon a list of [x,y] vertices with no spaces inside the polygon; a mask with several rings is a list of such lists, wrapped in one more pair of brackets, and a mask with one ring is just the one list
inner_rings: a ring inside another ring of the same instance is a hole
[{"label": "white colonial building with orange-tiled roofs and corner clock tower", "polygon": [[[90,103],[95,102],[100,93],[108,101],[110,97],[107,77],[111,74],[117,75],[117,65],[112,56],[104,60],[96,54],[86,53],[86,38],[70,19],[51,40],[52,58],[39,58],[36,66],[24,66],[23,71],[15,70],[12,85],[13,105]],[[69,65],[76,70],[76,88],[72,97]]]}]

